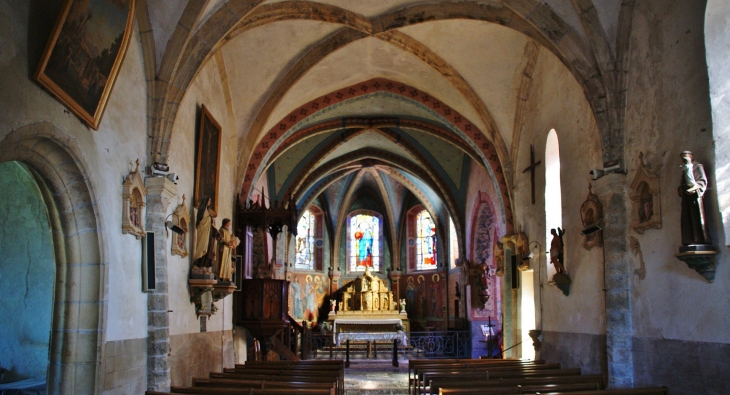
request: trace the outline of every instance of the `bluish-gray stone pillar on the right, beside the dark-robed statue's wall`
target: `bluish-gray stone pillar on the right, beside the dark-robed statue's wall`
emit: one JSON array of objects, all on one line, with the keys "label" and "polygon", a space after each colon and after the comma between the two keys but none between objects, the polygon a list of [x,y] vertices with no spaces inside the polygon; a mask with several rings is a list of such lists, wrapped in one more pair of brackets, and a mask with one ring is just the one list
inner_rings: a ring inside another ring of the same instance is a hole
[{"label": "bluish-gray stone pillar on the right, beside the dark-robed statue's wall", "polygon": [[626,175],[607,174],[594,181],[593,185],[604,212],[603,281],[606,295],[608,388],[630,388],[634,384],[634,360]]}]

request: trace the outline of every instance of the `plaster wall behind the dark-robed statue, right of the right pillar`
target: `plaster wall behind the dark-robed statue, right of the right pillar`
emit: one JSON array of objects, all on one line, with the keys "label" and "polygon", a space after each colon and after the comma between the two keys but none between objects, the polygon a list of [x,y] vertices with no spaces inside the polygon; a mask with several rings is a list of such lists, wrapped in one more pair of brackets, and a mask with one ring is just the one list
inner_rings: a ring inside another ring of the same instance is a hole
[{"label": "plaster wall behind the dark-robed statue, right of the right pillar", "polygon": [[[728,248],[717,205],[719,163],[714,164],[712,119],[702,4],[651,0],[634,13],[629,69],[626,158],[630,182],[639,152],[648,165],[663,167],[662,228],[630,232],[641,243],[646,278],[632,280],[634,336],[694,342],[730,343]],[[713,47],[714,48],[714,47]],[[708,48],[709,51],[709,48]],[[719,138],[718,140],[722,140]],[[679,154],[691,150],[705,165],[709,188],[705,213],[719,248],[714,283],[674,257],[681,245]],[[719,152],[727,155],[727,152]],[[720,169],[724,170],[724,169]],[[635,263],[638,267],[638,261]]]}]

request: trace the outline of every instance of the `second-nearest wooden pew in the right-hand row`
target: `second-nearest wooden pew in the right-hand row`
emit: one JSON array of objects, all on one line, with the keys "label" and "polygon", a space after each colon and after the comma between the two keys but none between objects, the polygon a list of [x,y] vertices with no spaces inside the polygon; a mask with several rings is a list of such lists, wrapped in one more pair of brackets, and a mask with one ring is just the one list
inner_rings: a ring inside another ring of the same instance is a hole
[{"label": "second-nearest wooden pew in the right-hand row", "polygon": [[585,376],[551,376],[551,377],[528,377],[516,379],[492,379],[492,380],[471,380],[463,377],[439,377],[432,379],[429,389],[431,393],[438,393],[441,388],[491,388],[509,387],[517,385],[545,385],[545,384],[595,384],[597,389],[604,389],[604,377],[602,375]]}]

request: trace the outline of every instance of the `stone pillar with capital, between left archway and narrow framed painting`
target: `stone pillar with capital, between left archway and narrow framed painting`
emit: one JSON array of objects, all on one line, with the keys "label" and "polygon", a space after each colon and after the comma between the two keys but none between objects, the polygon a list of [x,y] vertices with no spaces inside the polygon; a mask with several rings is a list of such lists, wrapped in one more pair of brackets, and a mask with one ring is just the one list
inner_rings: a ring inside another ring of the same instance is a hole
[{"label": "stone pillar with capital, between left archway and narrow framed painting", "polygon": [[155,233],[156,288],[147,294],[147,389],[170,391],[170,330],[167,289],[167,236],[165,219],[177,185],[165,177],[148,177],[147,231]]}]

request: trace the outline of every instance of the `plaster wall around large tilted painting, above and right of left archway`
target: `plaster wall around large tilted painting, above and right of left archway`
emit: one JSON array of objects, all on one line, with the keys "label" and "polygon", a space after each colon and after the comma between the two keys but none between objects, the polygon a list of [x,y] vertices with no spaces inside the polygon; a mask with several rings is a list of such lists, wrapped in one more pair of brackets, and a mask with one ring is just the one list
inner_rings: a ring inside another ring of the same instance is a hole
[{"label": "plaster wall around large tilted painting, above and right of left archway", "polygon": [[[142,293],[141,242],[121,232],[122,180],[131,160],[145,166],[146,84],[136,25],[98,131],[71,114],[31,79],[51,34],[59,4],[11,0],[0,3],[0,140],[10,131],[38,121],[53,123],[75,138],[87,165],[103,228],[102,257],[114,279],[107,288],[106,340],[146,337],[147,296]],[[118,253],[123,251],[124,253]],[[114,252],[114,253],[113,253]]]}]

